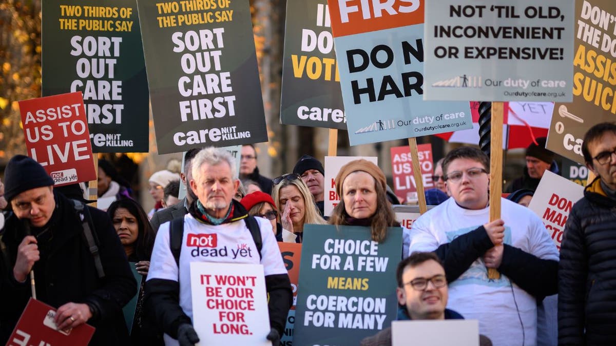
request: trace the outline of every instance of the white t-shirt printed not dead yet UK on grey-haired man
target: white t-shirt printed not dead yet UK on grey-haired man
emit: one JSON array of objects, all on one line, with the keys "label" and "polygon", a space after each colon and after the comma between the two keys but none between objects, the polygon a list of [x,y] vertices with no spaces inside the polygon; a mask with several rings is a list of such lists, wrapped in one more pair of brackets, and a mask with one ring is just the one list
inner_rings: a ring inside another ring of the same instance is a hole
[{"label": "white t-shirt printed not dead yet UK on grey-haired man", "polygon": [[[263,243],[261,259],[245,219],[214,226],[201,223],[190,214],[184,216],[184,237],[180,252],[181,270],[179,270],[180,307],[190,320],[193,318],[190,262],[262,264],[265,276],[287,273],[272,231],[272,223],[261,217],[254,219],[257,220],[261,230]],[[242,249],[244,250],[240,251]],[[178,268],[169,245],[169,222],[165,222],[160,225],[156,233],[147,280],[177,281],[177,278]],[[177,341],[166,334],[164,340],[166,345],[177,345]]]}]

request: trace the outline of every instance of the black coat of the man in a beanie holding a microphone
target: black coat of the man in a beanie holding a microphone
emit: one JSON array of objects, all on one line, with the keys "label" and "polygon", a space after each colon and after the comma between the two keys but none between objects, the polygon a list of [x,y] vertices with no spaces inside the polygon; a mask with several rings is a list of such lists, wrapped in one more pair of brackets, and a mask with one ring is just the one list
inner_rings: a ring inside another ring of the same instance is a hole
[{"label": "black coat of the man in a beanie holding a microphone", "polygon": [[[87,207],[92,217],[92,233],[99,240],[100,260],[105,271],[105,278],[100,280],[73,202],[60,193],[54,195],[56,207],[46,225],[49,230],[45,237],[41,233],[38,238],[41,260],[33,267],[37,298],[55,308],[68,302],[90,305],[94,315],[87,323],[96,328],[90,345],[129,345],[122,307],[136,294],[137,283],[111,220],[105,212]],[[18,283],[13,276],[17,247],[25,236],[22,222],[12,215],[4,230],[2,241],[6,244],[8,263],[2,260],[0,265],[2,344],[9,339],[31,297],[30,281]],[[52,237],[47,237],[49,235]]]}]

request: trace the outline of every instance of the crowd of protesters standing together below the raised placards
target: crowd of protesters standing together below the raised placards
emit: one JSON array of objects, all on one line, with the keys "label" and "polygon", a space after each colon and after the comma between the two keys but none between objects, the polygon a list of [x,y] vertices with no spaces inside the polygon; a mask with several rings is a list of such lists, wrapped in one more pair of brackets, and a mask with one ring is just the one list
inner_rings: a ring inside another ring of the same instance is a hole
[{"label": "crowd of protesters standing together below the raised placards", "polygon": [[[277,242],[302,243],[306,225],[330,224],[369,227],[376,242],[388,228],[402,228],[391,278],[397,320],[478,320],[481,345],[614,345],[616,124],[592,127],[582,151],[596,179],[570,211],[560,252],[527,208],[544,172],[558,172],[545,139],[527,148],[522,177],[506,187],[510,195],[492,222],[488,157],[473,147],[450,151],[426,191],[434,207],[410,229],[396,219],[399,201],[383,171],[363,159],[341,167],[334,180],[340,201],[326,217],[323,164],[309,155],[269,179],[259,173],[253,145],[241,148],[239,167],[225,150],[190,150],[184,167],[148,179],[156,203],[150,212],[108,161],[99,161],[99,198],[113,200],[103,211],[71,188],[54,188],[43,166],[17,155],[0,182],[0,342],[35,293],[57,308],[57,328],[94,326],[91,345],[197,344],[206,336],[193,328],[189,264],[233,262],[263,265],[267,340],[278,345],[293,295]],[[195,256],[184,249],[188,232],[216,235],[219,246],[248,244],[250,255]],[[135,296],[129,333],[122,308]],[[391,329],[362,345],[391,345]]]}]

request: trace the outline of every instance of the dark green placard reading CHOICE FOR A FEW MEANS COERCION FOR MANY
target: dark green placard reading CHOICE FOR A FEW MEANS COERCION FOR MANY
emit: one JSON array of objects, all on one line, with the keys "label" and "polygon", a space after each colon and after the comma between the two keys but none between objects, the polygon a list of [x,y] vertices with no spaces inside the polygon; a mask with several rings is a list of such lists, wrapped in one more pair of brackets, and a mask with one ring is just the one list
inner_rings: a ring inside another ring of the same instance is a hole
[{"label": "dark green placard reading CHOICE FOR A FEW MEANS COERCION FOR MANY", "polygon": [[[336,253],[339,252],[336,251],[336,241],[343,242],[345,253]],[[368,252],[348,254],[346,251],[350,251],[351,247],[357,248],[352,244],[358,241],[360,250],[367,249]],[[363,243],[365,241],[367,243]],[[328,260],[333,264],[334,256],[339,257],[339,269],[334,269],[332,265],[326,266],[327,269],[321,267],[321,263],[325,265]],[[373,243],[368,227],[306,225],[293,345],[359,345],[364,337],[389,327],[397,313],[395,269],[401,257],[400,227],[387,228],[387,238],[381,243]],[[353,268],[345,269],[349,263]],[[367,264],[372,264],[372,270],[368,270]],[[315,268],[312,268],[313,265]],[[350,304],[345,304],[344,300]],[[320,304],[331,304],[332,301],[334,305],[320,308],[324,306]],[[358,306],[368,310],[349,311]],[[342,307],[347,311],[341,311]],[[328,316],[331,317],[329,325],[325,322]]]}]

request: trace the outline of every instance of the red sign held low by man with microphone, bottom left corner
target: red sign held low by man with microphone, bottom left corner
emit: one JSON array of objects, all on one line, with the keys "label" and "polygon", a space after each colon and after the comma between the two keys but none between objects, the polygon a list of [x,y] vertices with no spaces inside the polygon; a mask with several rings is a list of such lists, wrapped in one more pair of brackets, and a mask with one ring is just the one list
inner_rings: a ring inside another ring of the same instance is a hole
[{"label": "red sign held low by man with microphone, bottom left corner", "polygon": [[81,324],[77,328],[60,331],[54,323],[55,312],[54,307],[30,298],[17,321],[17,326],[10,334],[7,346],[86,346],[90,342],[94,327]]}]

